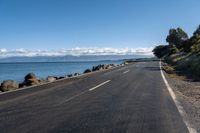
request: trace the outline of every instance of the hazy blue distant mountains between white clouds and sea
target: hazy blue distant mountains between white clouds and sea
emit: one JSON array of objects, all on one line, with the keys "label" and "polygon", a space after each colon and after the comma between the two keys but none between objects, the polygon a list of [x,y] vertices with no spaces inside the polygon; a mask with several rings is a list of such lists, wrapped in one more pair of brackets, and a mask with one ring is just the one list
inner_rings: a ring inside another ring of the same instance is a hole
[{"label": "hazy blue distant mountains between white clouds and sea", "polygon": [[7,57],[0,58],[0,62],[77,62],[77,61],[104,61],[123,60],[151,57],[147,55],[85,55],[85,56],[34,56],[34,57]]}]

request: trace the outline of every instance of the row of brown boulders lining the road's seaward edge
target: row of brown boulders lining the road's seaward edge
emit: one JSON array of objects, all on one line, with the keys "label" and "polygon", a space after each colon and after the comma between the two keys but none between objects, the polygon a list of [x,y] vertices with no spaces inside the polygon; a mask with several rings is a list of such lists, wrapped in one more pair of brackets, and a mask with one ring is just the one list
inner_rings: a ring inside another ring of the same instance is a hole
[{"label": "row of brown boulders lining the road's seaward edge", "polygon": [[[86,69],[82,74],[106,70],[106,69],[111,69],[111,68],[114,68],[114,67],[117,67],[117,66],[124,66],[126,64],[128,64],[128,62],[126,62],[126,61],[124,63],[119,64],[119,65],[116,65],[116,64],[99,64],[97,66],[93,66],[92,68]],[[15,80],[4,80],[1,83],[1,86],[0,86],[0,93],[12,91],[12,90],[17,90],[17,89],[22,89],[22,88],[29,87],[29,86],[40,85],[40,84],[44,84],[44,83],[50,83],[50,82],[54,82],[54,81],[57,81],[57,80],[60,80],[60,79],[67,79],[67,78],[71,78],[71,77],[76,77],[76,76],[79,76],[79,75],[82,75],[82,74],[74,73],[74,74],[68,74],[66,76],[60,76],[60,77],[48,76],[44,80],[44,79],[38,79],[37,76],[34,73],[28,73],[24,77],[24,81],[20,82],[20,83],[18,83]]]}]

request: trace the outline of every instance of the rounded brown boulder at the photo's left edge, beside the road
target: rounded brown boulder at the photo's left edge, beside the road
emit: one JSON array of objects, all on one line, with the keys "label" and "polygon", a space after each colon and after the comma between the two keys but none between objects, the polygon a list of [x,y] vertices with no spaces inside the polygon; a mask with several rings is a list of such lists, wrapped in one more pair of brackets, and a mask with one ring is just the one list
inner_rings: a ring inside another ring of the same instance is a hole
[{"label": "rounded brown boulder at the photo's left edge, beside the road", "polygon": [[1,91],[10,91],[10,90],[16,90],[19,88],[19,84],[14,80],[5,80],[1,83],[0,90]]}]

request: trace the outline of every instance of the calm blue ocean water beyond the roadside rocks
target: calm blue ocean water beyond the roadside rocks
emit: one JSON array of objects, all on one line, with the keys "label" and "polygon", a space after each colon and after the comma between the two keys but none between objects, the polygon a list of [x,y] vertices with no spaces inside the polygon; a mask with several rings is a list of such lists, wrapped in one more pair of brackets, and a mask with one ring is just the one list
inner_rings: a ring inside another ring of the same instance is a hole
[{"label": "calm blue ocean water beyond the roadside rocks", "polygon": [[30,72],[35,73],[39,79],[45,79],[47,76],[83,73],[85,69],[92,68],[92,66],[112,63],[120,64],[122,61],[0,63],[0,82],[7,79],[21,82]]}]

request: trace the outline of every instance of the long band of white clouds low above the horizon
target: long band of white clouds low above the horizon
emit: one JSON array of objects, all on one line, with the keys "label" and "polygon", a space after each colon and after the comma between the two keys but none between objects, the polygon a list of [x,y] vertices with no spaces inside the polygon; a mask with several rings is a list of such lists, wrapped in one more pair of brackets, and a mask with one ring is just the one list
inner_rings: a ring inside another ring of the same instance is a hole
[{"label": "long band of white clouds low above the horizon", "polygon": [[0,48],[0,58],[6,57],[35,57],[35,56],[82,56],[82,55],[149,55],[152,56],[152,48],[72,48],[58,50],[30,50]]}]

